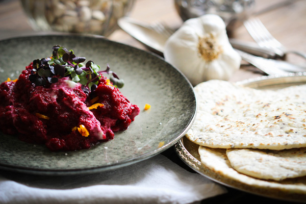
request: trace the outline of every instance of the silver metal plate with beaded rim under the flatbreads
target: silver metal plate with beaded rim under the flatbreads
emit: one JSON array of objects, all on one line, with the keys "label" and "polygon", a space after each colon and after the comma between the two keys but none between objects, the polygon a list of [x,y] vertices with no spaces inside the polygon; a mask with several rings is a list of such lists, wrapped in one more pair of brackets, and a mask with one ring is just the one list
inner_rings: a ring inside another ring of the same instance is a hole
[{"label": "silver metal plate with beaded rim under the flatbreads", "polygon": [[[293,85],[301,85],[306,83],[306,73],[297,73],[297,74],[288,74],[284,77],[261,77],[251,80],[246,80],[242,82],[238,82],[237,84],[241,84],[246,87],[256,88],[256,89],[280,89]],[[282,189],[281,187],[272,188],[269,186],[260,186],[260,185],[250,185],[245,183],[244,181],[239,181],[235,179],[231,179],[225,177],[220,173],[216,173],[212,169],[208,168],[206,165],[203,165],[200,162],[200,155],[198,153],[199,145],[191,142],[186,137],[183,137],[178,143],[175,144],[175,150],[177,154],[181,157],[181,159],[193,170],[198,173],[208,177],[209,179],[220,183],[222,185],[236,188],[242,191],[246,191],[252,194],[257,194],[261,196],[277,198],[288,201],[305,201],[306,194],[293,192],[288,189]],[[259,180],[260,181],[260,180]],[[291,180],[290,182],[301,183],[306,185],[306,176],[296,178],[295,180]],[[271,182],[271,186],[273,182]]]}]

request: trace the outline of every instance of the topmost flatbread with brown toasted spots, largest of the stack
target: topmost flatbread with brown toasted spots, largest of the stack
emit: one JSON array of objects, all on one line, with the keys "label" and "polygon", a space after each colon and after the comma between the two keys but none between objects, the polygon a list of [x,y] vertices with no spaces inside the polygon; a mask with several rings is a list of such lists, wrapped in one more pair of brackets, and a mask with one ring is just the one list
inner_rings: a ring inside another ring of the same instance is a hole
[{"label": "topmost flatbread with brown toasted spots, largest of the stack", "polygon": [[306,85],[256,90],[211,80],[194,88],[198,110],[186,134],[212,148],[306,147]]}]

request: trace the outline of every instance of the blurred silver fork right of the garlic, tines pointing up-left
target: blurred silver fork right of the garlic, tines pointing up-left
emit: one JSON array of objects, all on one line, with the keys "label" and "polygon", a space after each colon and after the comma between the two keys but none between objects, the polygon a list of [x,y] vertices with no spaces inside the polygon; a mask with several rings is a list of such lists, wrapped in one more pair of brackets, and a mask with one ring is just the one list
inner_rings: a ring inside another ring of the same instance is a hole
[{"label": "blurred silver fork right of the garlic, tines pointing up-left", "polygon": [[266,29],[259,18],[252,18],[244,21],[244,26],[250,36],[258,43],[259,46],[273,49],[276,55],[279,57],[283,58],[286,56],[286,54],[293,53],[306,59],[305,53],[295,50],[288,50],[282,43],[277,41]]}]

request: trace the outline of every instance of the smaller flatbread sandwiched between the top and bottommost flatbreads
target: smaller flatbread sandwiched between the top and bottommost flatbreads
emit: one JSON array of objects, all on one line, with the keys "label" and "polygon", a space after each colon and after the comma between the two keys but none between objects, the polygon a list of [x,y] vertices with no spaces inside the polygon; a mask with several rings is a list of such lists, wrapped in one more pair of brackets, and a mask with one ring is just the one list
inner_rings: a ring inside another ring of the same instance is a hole
[{"label": "smaller flatbread sandwiched between the top and bottommost flatbreads", "polygon": [[240,173],[281,181],[306,175],[306,148],[285,150],[227,149],[231,166]]}]

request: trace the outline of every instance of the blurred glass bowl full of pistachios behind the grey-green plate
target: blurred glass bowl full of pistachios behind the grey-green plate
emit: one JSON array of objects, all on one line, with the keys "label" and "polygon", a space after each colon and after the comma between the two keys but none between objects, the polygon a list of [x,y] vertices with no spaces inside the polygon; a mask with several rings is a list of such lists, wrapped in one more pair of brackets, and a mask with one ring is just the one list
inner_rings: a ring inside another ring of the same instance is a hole
[{"label": "blurred glass bowl full of pistachios behind the grey-green plate", "polygon": [[109,36],[134,0],[21,0],[21,4],[36,31]]}]

